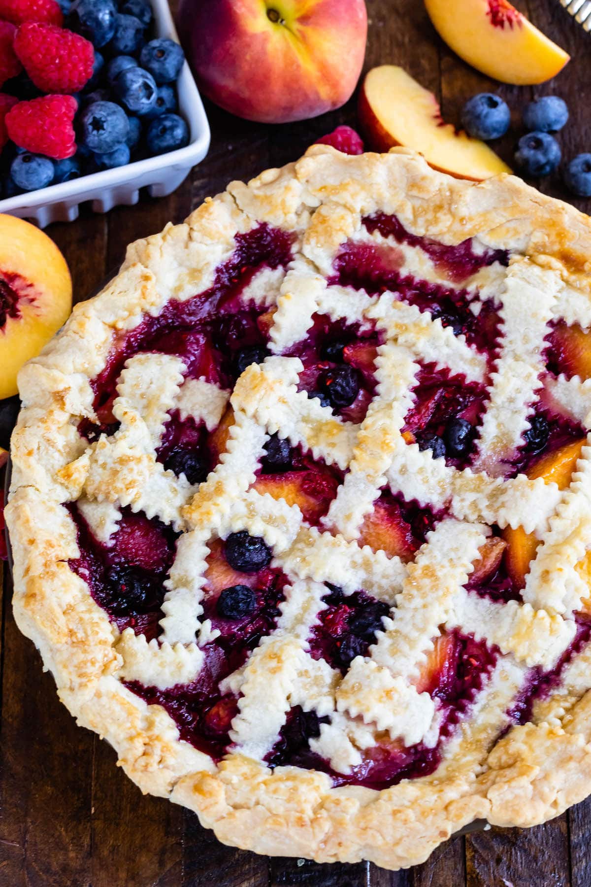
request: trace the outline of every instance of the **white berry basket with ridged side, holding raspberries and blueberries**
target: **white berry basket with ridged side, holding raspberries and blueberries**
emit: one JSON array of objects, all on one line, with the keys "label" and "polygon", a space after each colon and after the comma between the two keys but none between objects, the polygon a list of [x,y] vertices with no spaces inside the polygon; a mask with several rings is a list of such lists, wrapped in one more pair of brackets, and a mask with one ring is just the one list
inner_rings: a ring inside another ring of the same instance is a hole
[{"label": "white berry basket with ridged side, holding raspberries and blueberries", "polygon": [[[156,36],[178,41],[167,0],[152,0],[152,9]],[[189,170],[206,156],[210,139],[206,112],[186,61],[176,86],[180,113],[189,124],[189,145],[0,200],[0,213],[30,219],[44,228],[51,222],[73,222],[78,217],[79,205],[86,200],[95,212],[106,213],[121,204],[133,206],[139,200],[140,188],[147,187],[152,197],[165,197],[175,191]]]}]

